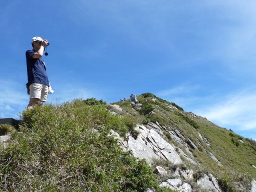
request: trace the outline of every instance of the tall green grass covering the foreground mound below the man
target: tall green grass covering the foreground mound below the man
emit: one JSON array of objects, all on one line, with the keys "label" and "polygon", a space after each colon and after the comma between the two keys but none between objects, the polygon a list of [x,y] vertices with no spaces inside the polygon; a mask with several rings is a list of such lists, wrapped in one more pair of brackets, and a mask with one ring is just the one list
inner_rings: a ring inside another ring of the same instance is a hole
[{"label": "tall green grass covering the foreground mound below the man", "polygon": [[110,129],[131,131],[131,119],[98,104],[74,100],[24,111],[20,132],[0,149],[0,191],[162,191],[145,160],[107,136]]}]

